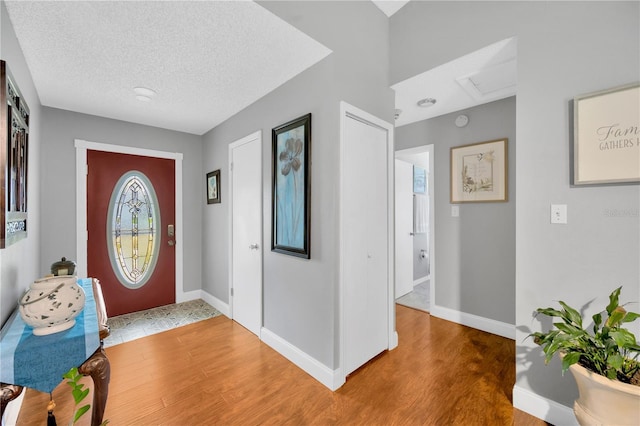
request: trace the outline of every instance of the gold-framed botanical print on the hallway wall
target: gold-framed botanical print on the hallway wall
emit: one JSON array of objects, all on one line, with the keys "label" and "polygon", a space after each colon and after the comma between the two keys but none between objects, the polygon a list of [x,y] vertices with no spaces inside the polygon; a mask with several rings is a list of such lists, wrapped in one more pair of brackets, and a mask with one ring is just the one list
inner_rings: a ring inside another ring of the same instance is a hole
[{"label": "gold-framed botanical print on the hallway wall", "polygon": [[451,203],[507,201],[508,139],[451,148]]}]

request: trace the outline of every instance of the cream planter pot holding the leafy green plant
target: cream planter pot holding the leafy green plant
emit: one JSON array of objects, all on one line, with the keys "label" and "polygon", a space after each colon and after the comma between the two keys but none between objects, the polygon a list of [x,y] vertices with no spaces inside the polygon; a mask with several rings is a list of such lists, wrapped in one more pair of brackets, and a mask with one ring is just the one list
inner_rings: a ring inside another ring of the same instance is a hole
[{"label": "cream planter pot holding the leafy green plant", "polygon": [[582,426],[640,425],[640,386],[607,379],[578,364],[569,370],[580,392],[573,412]]}]

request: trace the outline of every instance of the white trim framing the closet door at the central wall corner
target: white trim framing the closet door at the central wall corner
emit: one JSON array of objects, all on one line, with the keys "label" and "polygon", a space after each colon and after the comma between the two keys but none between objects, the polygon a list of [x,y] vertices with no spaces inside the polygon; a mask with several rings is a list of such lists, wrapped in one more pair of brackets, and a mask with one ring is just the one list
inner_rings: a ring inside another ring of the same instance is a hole
[{"label": "white trim framing the closet door at the central wall corner", "polygon": [[[339,199],[339,213],[338,217],[340,218],[340,226],[339,226],[339,240],[340,240],[340,256],[339,258],[339,278],[338,278],[338,286],[340,292],[340,303],[339,303],[339,316],[340,316],[340,377],[339,381],[344,383],[346,381],[346,371],[345,371],[345,362],[346,359],[346,310],[344,305],[344,300],[346,297],[346,286],[343,281],[344,279],[344,268],[345,263],[342,256],[342,253],[345,251],[345,247],[343,244],[343,235],[344,229],[346,226],[346,218],[343,210],[344,206],[344,191],[342,190],[344,186],[344,175],[345,175],[345,167],[347,165],[344,164],[344,156],[345,156],[345,143],[346,143],[346,120],[347,119],[355,119],[366,125],[373,126],[385,130],[387,132],[387,230],[388,236],[387,241],[387,289],[388,289],[388,349],[393,349],[398,346],[398,333],[396,332],[396,321],[395,321],[395,246],[394,246],[394,235],[395,235],[395,203],[394,203],[394,193],[395,193],[395,178],[394,178],[394,143],[393,143],[393,125],[383,121],[366,111],[363,111],[353,105],[350,105],[344,101],[340,102],[340,199]],[[341,384],[339,384],[341,385]],[[337,387],[339,387],[339,385]]]}]

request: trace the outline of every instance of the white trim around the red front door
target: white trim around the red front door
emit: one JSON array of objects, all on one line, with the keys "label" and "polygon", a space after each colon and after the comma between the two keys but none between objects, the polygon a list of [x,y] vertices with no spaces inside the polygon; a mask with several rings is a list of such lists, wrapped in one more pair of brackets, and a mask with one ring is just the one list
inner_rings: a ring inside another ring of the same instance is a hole
[{"label": "white trim around the red front door", "polygon": [[[75,140],[76,147],[76,259],[77,274],[87,276],[87,151],[105,151],[118,154],[143,155],[146,157],[168,158],[175,161],[175,210],[176,210],[176,303],[188,300],[183,287],[183,220],[182,220],[182,153],[156,151],[123,145]],[[99,278],[99,277],[97,277]]]}]

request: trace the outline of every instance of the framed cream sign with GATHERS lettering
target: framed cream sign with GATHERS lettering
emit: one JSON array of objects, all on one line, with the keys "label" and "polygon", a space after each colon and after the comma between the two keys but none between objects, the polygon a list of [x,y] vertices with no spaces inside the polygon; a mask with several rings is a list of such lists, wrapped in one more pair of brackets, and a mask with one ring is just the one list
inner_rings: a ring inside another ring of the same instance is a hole
[{"label": "framed cream sign with GATHERS lettering", "polygon": [[640,182],[640,84],[573,99],[571,183]]}]

